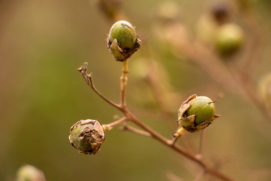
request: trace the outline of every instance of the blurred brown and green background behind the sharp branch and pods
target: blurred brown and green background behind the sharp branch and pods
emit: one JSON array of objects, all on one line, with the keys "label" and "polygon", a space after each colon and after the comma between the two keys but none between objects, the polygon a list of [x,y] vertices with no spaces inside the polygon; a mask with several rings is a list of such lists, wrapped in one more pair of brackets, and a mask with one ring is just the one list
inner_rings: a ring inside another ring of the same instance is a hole
[{"label": "blurred brown and green background behind the sharp branch and pods", "polygon": [[[71,147],[69,130],[77,121],[94,119],[108,124],[114,115],[122,116],[94,94],[77,70],[88,62],[96,88],[119,101],[122,67],[105,43],[114,19],[99,8],[104,2],[0,1],[0,180],[15,180],[24,164],[41,169],[47,180],[193,180],[200,173],[197,164],[158,141],[117,128],[106,133],[95,155],[79,154]],[[177,109],[190,95],[219,101],[216,113],[222,116],[204,130],[203,159],[236,180],[271,180],[271,118],[262,111],[271,100],[263,101],[266,105],[262,107],[253,104],[238,93],[240,84],[235,90],[230,80],[225,79],[227,84],[210,76],[216,68],[204,71],[201,63],[197,66],[190,61],[193,51],[187,50],[187,41],[200,39],[204,35],[199,32],[214,26],[199,28],[198,22],[210,16],[217,2],[122,2],[125,20],[136,26],[142,40],[141,49],[129,59],[127,107],[171,138],[178,128]],[[225,56],[214,48],[214,40],[200,41],[226,61],[228,69],[235,73],[249,70],[251,87],[258,90],[259,80],[271,70],[271,3],[240,0],[222,4],[218,18],[221,12],[227,18],[220,23],[230,21],[241,27],[239,49]],[[233,50],[226,54],[229,52]],[[249,68],[244,68],[251,57]],[[178,143],[196,154],[199,140],[200,133],[186,133]]]}]

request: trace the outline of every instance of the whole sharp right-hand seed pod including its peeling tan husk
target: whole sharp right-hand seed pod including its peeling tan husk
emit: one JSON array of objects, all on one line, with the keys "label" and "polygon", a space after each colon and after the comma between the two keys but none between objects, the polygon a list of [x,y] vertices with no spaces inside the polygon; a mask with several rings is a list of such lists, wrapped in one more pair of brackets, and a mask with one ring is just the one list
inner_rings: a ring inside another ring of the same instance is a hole
[{"label": "whole sharp right-hand seed pod including its peeling tan husk", "polygon": [[178,110],[178,122],[189,132],[206,128],[218,117],[220,115],[215,115],[214,102],[204,96],[190,96]]}]

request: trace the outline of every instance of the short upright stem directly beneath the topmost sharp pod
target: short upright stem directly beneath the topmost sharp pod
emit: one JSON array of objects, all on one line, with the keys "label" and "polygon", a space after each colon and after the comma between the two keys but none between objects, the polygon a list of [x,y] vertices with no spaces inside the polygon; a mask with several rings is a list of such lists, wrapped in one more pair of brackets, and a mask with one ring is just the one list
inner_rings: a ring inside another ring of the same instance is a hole
[{"label": "short upright stem directly beneath the topmost sharp pod", "polygon": [[127,84],[128,60],[123,61],[122,75],[120,77],[120,106],[125,107],[125,88]]}]

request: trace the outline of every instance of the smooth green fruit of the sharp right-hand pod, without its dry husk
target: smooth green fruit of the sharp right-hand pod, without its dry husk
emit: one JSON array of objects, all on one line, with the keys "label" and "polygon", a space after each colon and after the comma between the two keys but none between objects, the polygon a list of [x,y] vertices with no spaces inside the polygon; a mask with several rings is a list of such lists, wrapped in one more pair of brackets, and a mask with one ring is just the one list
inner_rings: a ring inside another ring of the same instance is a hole
[{"label": "smooth green fruit of the sharp right-hand pod, without its dry husk", "polygon": [[208,121],[210,123],[215,114],[215,105],[210,98],[199,96],[190,100],[187,104],[191,107],[185,112],[186,116],[196,115],[195,125]]}]

